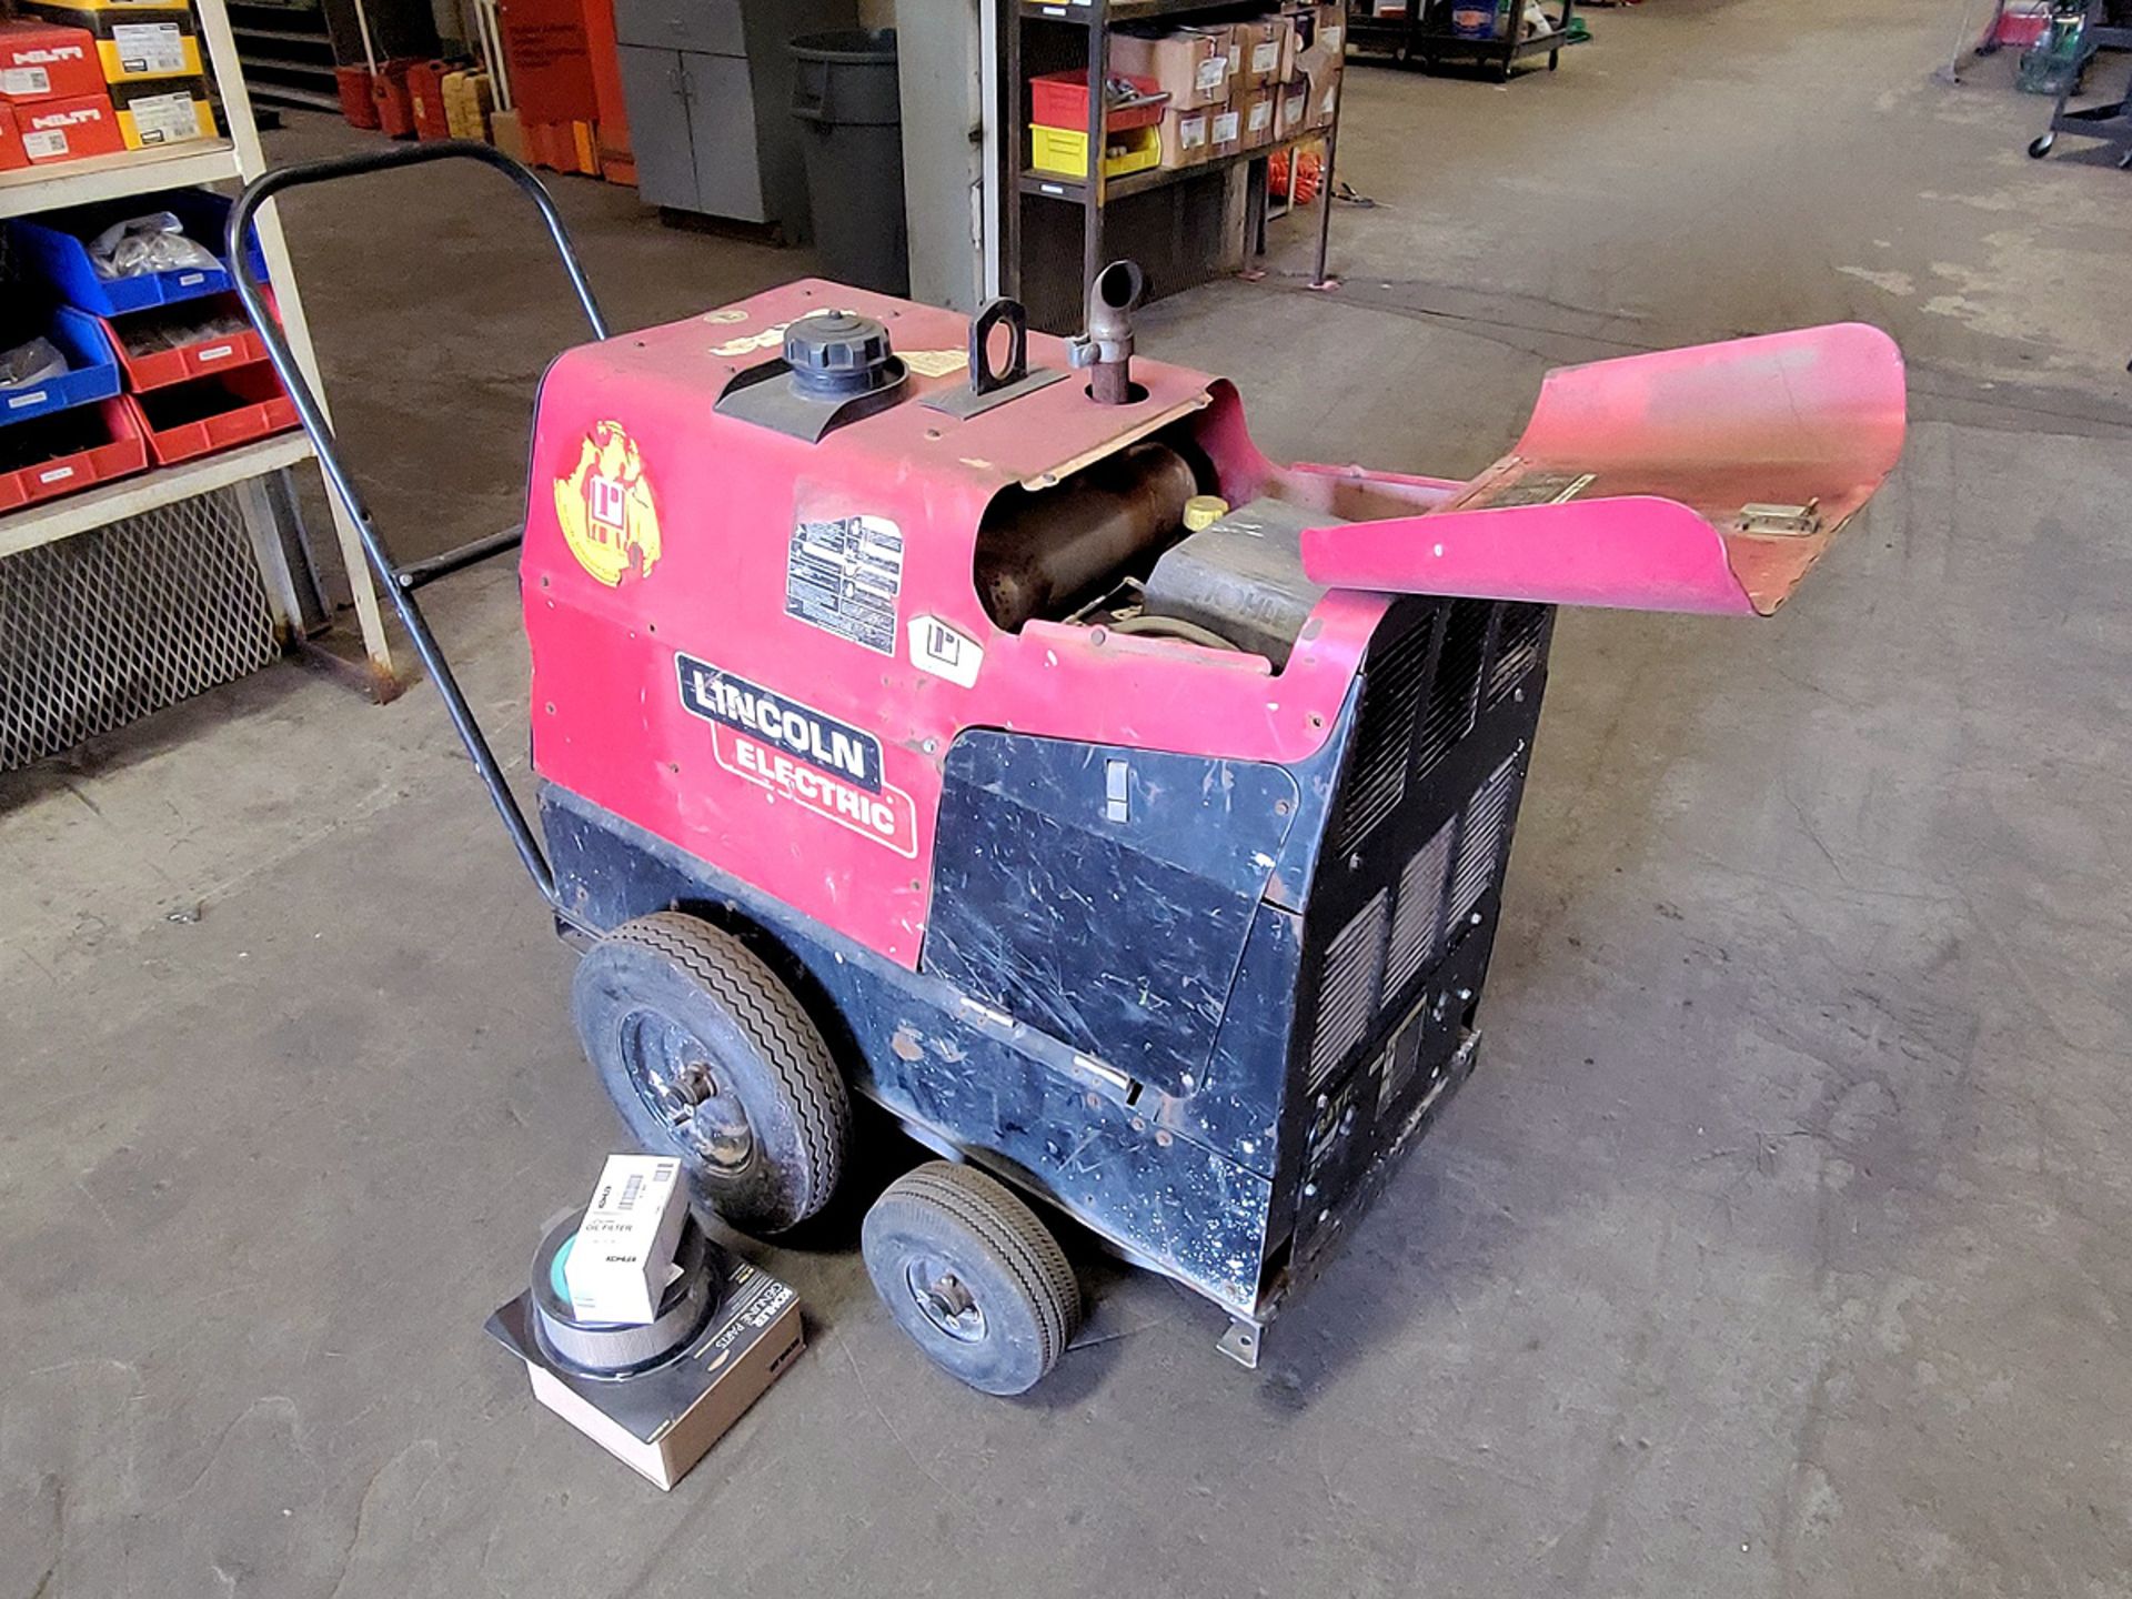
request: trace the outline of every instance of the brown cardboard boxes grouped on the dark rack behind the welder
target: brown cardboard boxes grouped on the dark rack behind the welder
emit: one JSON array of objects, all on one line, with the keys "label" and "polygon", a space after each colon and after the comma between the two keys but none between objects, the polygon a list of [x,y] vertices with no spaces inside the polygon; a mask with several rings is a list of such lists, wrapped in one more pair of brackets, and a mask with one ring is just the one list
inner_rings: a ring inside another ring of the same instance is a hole
[{"label": "brown cardboard boxes grouped on the dark rack behind the welder", "polygon": [[1330,126],[1339,109],[1345,6],[1290,4],[1237,23],[1119,30],[1111,68],[1153,81],[1160,164],[1198,166]]}]

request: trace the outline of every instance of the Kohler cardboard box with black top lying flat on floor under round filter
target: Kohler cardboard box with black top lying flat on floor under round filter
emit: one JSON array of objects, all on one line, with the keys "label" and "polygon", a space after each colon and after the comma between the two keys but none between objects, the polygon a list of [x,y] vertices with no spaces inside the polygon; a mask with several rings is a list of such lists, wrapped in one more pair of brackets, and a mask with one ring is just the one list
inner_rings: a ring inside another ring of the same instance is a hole
[{"label": "Kohler cardboard box with black top lying flat on floor under round filter", "polygon": [[586,1377],[556,1364],[533,1335],[527,1294],[488,1318],[488,1335],[527,1362],[542,1405],[667,1490],[806,1347],[791,1288],[746,1260],[725,1271],[725,1298],[695,1341],[637,1377]]}]

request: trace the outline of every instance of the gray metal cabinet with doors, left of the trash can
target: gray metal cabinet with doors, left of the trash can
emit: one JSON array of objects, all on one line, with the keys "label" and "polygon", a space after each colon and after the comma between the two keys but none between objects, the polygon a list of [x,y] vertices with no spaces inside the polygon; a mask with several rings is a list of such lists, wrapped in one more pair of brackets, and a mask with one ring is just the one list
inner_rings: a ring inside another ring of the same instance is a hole
[{"label": "gray metal cabinet with doors, left of the trash can", "polygon": [[785,45],[853,26],[855,0],[614,0],[637,194],[804,241],[806,166]]}]

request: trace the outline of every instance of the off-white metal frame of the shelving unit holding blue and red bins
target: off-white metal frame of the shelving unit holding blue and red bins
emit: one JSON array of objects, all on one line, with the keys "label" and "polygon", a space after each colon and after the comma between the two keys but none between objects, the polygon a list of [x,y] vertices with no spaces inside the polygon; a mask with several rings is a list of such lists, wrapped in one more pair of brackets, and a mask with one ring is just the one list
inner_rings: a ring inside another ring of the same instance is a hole
[{"label": "off-white metal frame of the shelving unit holding blue and red bins", "polygon": [[[200,41],[207,47],[207,66],[215,83],[215,94],[222,100],[228,139],[192,141],[166,149],[141,149],[0,173],[0,220],[104,200],[145,198],[203,183],[241,183],[266,171],[224,0],[192,0],[192,6]],[[318,388],[318,356],[313,354],[311,335],[305,324],[303,298],[296,292],[288,243],[271,207],[260,213],[258,241],[266,258],[269,277],[275,284],[281,326],[305,375]],[[311,446],[301,433],[275,435],[237,450],[200,456],[175,467],[149,469],[79,495],[0,514],[0,563],[28,556],[45,546],[55,546],[62,539],[72,539],[96,529],[117,524],[139,527],[139,518],[177,512],[192,501],[228,490],[235,492],[235,512],[243,520],[252,554],[260,567],[266,601],[273,608],[275,633],[286,642],[301,635],[307,623],[320,620],[316,599],[309,597],[309,574],[292,571],[288,559],[288,552],[292,548],[301,552],[301,546],[298,529],[294,527],[294,499],[288,492],[284,473],[309,458]],[[192,510],[203,507],[194,505]],[[348,522],[337,505],[333,507],[333,520],[354,599],[362,650],[369,661],[371,684],[379,697],[386,697],[397,691],[397,680],[392,676],[392,655],[386,644],[384,620],[377,610],[377,593],[371,588],[369,567],[362,561],[362,546],[356,539],[354,524]],[[4,582],[9,571],[9,567],[0,565],[0,582]]]}]

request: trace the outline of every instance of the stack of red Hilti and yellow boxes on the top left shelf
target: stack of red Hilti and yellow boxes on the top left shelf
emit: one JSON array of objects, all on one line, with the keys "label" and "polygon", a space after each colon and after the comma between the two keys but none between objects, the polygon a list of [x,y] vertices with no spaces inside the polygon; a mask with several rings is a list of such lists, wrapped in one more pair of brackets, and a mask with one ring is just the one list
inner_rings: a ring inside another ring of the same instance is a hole
[{"label": "stack of red Hilti and yellow boxes on the top left shelf", "polygon": [[[0,96],[13,100],[26,160],[213,136],[200,38],[183,0],[23,0],[23,19],[0,28],[0,41],[21,41],[19,49],[0,49],[0,62],[23,58],[0,66],[13,72],[0,81]],[[53,87],[34,87],[38,68]],[[58,90],[62,77],[66,94]],[[26,113],[36,128],[23,126]]]}]

